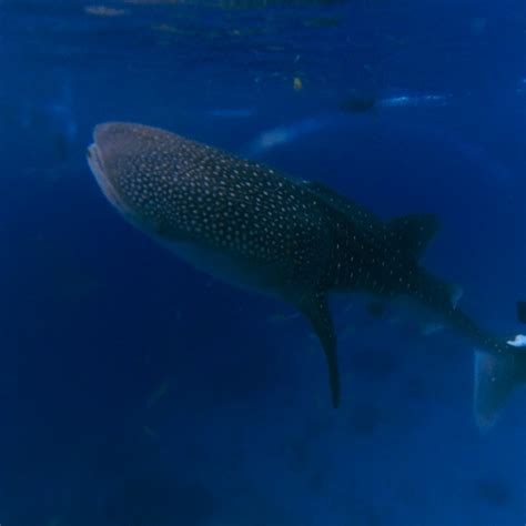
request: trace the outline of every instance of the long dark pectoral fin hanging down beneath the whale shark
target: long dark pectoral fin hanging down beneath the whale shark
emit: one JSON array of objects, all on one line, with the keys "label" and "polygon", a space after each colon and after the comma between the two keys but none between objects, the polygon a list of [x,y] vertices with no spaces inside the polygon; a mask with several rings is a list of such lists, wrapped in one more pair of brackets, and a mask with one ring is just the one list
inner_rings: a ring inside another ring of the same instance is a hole
[{"label": "long dark pectoral fin hanging down beneath the whale shark", "polygon": [[336,353],[337,345],[326,294],[323,292],[310,294],[299,304],[299,308],[311,322],[311,325],[322,344],[328,366],[328,381],[331,385],[333,406],[337,407],[340,405],[341,396]]}]

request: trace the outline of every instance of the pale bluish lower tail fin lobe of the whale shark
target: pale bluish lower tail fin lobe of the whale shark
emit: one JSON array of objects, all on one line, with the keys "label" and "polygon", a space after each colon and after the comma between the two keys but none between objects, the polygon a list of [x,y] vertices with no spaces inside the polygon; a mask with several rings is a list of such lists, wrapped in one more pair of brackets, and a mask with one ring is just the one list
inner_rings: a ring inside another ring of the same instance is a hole
[{"label": "pale bluish lower tail fin lobe of the whale shark", "polygon": [[493,354],[475,351],[475,421],[481,429],[496,422],[512,393],[526,383],[526,350],[524,354]]}]

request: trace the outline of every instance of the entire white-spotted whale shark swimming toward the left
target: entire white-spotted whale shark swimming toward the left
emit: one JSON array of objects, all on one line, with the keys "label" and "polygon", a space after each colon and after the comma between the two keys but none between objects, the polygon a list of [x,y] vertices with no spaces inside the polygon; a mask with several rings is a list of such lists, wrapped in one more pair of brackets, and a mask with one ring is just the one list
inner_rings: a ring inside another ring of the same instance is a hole
[{"label": "entire white-spotted whale shark swimming toward the left", "polygon": [[322,183],[155,128],[109,122],[93,135],[88,162],[129,222],[195,267],[304,314],[325,352],[334,406],[341,387],[327,296],[335,292],[408,296],[467,336],[481,427],[526,382],[525,338],[482,331],[457,307],[462,291],[419,264],[438,229],[434,215],[384,222]]}]

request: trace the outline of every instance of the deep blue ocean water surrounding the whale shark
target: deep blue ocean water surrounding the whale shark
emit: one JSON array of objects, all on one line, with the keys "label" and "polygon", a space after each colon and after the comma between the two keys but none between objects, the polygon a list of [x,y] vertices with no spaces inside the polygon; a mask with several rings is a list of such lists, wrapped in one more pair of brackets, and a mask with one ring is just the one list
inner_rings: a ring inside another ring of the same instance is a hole
[{"label": "deep blue ocean water surrounding the whale shark", "polygon": [[277,301],[127,224],[92,129],[161,127],[384,219],[482,326],[526,297],[526,4],[0,1],[2,526],[526,523],[526,390],[473,418],[473,348],[334,299],[343,403]]}]

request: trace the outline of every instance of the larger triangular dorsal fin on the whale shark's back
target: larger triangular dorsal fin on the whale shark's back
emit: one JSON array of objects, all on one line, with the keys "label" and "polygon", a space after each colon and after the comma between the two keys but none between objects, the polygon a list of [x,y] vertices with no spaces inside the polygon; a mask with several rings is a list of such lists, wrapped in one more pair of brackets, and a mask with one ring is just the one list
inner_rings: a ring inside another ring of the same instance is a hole
[{"label": "larger triangular dorsal fin on the whale shark's back", "polygon": [[435,214],[403,215],[387,223],[395,242],[403,246],[405,253],[416,260],[422,256],[439,226]]}]

